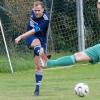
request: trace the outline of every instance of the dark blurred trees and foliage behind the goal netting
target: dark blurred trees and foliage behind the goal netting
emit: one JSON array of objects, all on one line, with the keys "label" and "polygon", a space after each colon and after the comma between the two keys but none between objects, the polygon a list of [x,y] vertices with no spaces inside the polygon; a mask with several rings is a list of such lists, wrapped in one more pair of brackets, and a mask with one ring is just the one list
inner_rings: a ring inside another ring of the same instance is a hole
[{"label": "dark blurred trees and foliage behind the goal netting", "polygon": [[[19,34],[26,32],[33,2],[34,0],[0,0],[0,18],[10,52],[29,52],[24,45],[24,41],[17,47],[14,43],[14,39]],[[86,47],[89,47],[100,42],[100,22],[97,16],[97,0],[83,0],[83,2],[85,42]],[[48,4],[49,12],[50,4],[51,0],[49,0]],[[66,50],[75,52],[78,50],[76,10],[76,0],[53,1],[51,29],[55,52]],[[0,33],[0,54],[3,53],[4,43]]]}]

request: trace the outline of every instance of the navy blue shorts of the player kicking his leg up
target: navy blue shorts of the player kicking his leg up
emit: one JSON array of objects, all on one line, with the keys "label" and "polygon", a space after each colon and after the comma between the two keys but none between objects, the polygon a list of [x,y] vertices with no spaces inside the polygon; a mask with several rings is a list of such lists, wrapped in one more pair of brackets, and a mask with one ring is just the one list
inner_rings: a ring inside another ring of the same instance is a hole
[{"label": "navy blue shorts of the player kicking his leg up", "polygon": [[44,49],[44,53],[46,53],[46,42],[44,42],[42,39],[38,38],[38,37],[35,36],[35,35],[29,36],[29,37],[26,39],[26,45],[28,46],[28,48],[29,48],[29,49],[33,49],[33,48],[31,48],[31,43],[32,43],[35,39],[39,39],[39,40],[40,40],[41,46],[42,46],[42,48]]}]

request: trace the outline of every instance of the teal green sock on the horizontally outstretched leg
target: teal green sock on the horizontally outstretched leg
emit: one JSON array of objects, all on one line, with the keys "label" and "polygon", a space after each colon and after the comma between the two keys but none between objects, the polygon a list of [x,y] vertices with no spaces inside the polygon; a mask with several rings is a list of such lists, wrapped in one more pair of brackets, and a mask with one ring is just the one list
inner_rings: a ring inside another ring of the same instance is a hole
[{"label": "teal green sock on the horizontally outstretched leg", "polygon": [[53,66],[67,66],[67,65],[72,65],[76,62],[74,55],[72,56],[64,56],[60,57],[56,60],[48,60],[47,61],[47,66],[48,67],[53,67]]}]

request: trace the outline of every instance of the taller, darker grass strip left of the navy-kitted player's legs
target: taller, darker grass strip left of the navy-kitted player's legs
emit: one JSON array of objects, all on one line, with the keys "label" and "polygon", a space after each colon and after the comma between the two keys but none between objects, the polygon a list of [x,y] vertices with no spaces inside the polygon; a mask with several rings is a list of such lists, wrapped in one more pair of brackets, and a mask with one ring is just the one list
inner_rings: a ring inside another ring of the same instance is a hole
[{"label": "taller, darker grass strip left of the navy-kitted player's legs", "polygon": [[[11,56],[11,63],[14,72],[21,70],[28,70],[34,67],[33,55],[20,54]],[[0,72],[11,72],[7,56],[0,56]]]}]

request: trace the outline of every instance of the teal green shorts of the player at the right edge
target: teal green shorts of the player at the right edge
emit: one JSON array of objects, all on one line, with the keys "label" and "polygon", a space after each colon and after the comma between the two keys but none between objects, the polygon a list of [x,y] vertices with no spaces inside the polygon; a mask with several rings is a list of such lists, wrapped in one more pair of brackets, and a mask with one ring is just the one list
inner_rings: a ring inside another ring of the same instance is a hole
[{"label": "teal green shorts of the player at the right edge", "polygon": [[100,62],[100,44],[89,47],[84,52],[91,58],[91,63],[95,64]]}]

